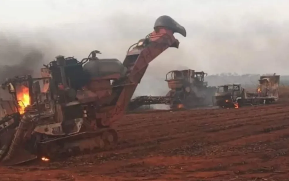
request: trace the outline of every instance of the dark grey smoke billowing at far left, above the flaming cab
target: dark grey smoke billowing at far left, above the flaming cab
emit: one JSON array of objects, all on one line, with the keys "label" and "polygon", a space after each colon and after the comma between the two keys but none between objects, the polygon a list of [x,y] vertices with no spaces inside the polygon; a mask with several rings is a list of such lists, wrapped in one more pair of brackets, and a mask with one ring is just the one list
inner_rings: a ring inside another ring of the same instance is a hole
[{"label": "dark grey smoke billowing at far left, above the flaming cab", "polygon": [[30,74],[39,76],[45,63],[45,53],[50,53],[40,44],[32,43],[16,35],[0,36],[0,82],[6,78]]}]

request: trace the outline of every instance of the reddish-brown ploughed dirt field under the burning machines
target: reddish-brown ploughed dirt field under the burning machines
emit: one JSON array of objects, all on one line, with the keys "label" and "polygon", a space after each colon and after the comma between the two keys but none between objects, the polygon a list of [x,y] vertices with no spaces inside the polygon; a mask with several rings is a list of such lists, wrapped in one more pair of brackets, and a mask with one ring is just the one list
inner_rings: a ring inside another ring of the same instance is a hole
[{"label": "reddish-brown ploughed dirt field under the burning machines", "polygon": [[116,148],[1,167],[0,181],[289,180],[289,104],[129,114]]}]

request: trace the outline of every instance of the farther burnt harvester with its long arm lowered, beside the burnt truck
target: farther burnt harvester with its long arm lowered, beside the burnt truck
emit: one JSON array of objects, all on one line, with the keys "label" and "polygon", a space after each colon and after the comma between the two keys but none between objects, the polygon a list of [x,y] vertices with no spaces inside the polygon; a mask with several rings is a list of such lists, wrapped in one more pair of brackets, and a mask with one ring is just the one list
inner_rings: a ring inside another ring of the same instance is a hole
[{"label": "farther burnt harvester with its long arm lowered, beside the burnt truck", "polygon": [[169,71],[165,81],[169,92],[165,96],[139,96],[130,101],[129,109],[141,105],[167,104],[171,109],[190,109],[213,105],[212,97],[216,87],[209,87],[204,81],[203,71],[174,70]]}]

